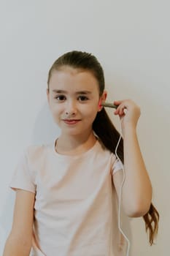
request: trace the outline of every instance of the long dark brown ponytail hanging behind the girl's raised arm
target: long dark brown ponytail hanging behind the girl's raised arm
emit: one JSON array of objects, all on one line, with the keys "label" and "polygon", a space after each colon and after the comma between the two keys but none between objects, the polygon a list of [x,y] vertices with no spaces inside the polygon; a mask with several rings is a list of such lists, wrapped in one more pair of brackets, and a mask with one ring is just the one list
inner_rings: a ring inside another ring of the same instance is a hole
[{"label": "long dark brown ponytail hanging behind the girl's raised arm", "polygon": [[[117,129],[112,124],[107,112],[104,108],[100,112],[97,113],[95,120],[93,121],[93,131],[96,133],[98,138],[100,138],[101,142],[104,144],[106,148],[109,149],[112,153],[115,154],[115,148],[117,146],[117,142],[120,138],[120,133],[117,132]],[[123,138],[121,138],[119,146],[117,148],[117,155],[120,160],[124,162],[123,157]],[[154,244],[154,238],[158,234],[158,221],[159,214],[156,208],[150,204],[150,209],[143,216],[145,222],[145,230],[149,233],[149,241],[150,245]]]}]

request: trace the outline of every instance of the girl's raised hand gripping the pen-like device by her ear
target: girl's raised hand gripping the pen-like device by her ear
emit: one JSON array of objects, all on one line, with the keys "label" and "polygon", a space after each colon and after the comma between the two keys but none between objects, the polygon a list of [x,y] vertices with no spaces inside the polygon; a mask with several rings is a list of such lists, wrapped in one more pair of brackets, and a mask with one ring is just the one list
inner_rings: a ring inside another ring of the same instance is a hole
[{"label": "girl's raised hand gripping the pen-like device by her ear", "polygon": [[114,105],[118,105],[115,110],[115,115],[119,115],[122,120],[122,126],[130,124],[134,128],[136,128],[137,121],[141,114],[140,108],[136,105],[131,99],[124,99],[115,101]]}]

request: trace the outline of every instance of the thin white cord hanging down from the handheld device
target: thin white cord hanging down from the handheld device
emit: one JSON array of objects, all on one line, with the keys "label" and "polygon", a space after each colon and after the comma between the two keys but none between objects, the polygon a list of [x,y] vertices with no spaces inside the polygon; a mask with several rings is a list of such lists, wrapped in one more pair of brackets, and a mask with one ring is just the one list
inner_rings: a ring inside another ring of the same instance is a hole
[{"label": "thin white cord hanging down from the handheld device", "polygon": [[[121,124],[122,120],[120,120],[120,124]],[[121,162],[120,158],[117,156],[117,148],[119,146],[119,143],[120,143],[120,140],[121,140],[121,135],[120,135],[120,138],[117,142],[117,146],[115,148],[115,156],[117,157],[117,159]],[[121,203],[121,197],[122,197],[122,188],[123,188],[123,183],[125,181],[125,169],[123,167],[123,181],[122,181],[122,184],[121,184],[121,187],[120,187],[120,195],[119,195],[119,206],[118,206],[118,228],[120,230],[120,233],[123,234],[125,240],[128,242],[128,249],[127,249],[127,252],[126,252],[126,256],[128,256],[129,254],[129,249],[130,249],[130,241],[128,240],[128,237],[125,236],[125,233],[123,233],[123,230],[121,228],[121,225],[120,225],[120,203]]]}]

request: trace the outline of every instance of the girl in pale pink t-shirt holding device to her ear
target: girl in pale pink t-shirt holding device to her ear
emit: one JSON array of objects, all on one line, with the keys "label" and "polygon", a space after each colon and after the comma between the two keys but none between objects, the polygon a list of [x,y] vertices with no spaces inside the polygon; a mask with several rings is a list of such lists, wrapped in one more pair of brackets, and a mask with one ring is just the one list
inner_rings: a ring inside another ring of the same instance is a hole
[{"label": "girl in pale pink t-shirt holding device to her ear", "polygon": [[18,162],[4,256],[125,255],[118,201],[128,217],[144,218],[153,244],[159,214],[136,136],[140,110],[129,99],[114,102],[123,132],[116,154],[120,135],[102,107],[106,98],[103,69],[90,53],[65,53],[50,68],[47,100],[61,135],[28,146]]}]

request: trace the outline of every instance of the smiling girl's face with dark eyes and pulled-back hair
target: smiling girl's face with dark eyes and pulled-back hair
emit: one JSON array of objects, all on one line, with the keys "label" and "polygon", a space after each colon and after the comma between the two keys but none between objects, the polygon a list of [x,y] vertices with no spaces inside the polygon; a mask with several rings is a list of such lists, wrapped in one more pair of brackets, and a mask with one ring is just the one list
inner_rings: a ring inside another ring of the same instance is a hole
[{"label": "smiling girl's face with dark eyes and pulled-back hair", "polygon": [[53,118],[65,135],[83,135],[92,131],[100,99],[98,81],[85,69],[61,67],[52,72],[47,99]]}]

